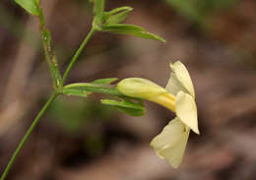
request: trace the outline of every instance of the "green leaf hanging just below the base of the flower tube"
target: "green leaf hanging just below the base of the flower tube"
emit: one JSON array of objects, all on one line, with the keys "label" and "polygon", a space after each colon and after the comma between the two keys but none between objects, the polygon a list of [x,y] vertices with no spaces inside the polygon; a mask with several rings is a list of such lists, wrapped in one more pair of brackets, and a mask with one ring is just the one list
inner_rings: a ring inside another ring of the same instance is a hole
[{"label": "green leaf hanging just below the base of the flower tube", "polygon": [[102,99],[101,103],[114,106],[118,110],[121,110],[132,116],[143,116],[146,112],[142,100],[139,100],[138,102],[132,102],[128,100],[128,98],[122,99],[121,101]]}]

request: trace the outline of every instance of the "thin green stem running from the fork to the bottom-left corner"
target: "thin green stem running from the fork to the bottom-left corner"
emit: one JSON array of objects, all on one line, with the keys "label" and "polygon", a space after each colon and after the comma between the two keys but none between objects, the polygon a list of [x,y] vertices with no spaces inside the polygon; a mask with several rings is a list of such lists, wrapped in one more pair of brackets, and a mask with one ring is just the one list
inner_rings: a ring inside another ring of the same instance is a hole
[{"label": "thin green stem running from the fork to the bottom-left corner", "polygon": [[51,102],[57,97],[59,93],[54,91],[54,93],[52,93],[52,95],[49,97],[49,99],[47,100],[47,102],[43,105],[43,107],[41,108],[41,110],[39,111],[39,113],[36,115],[36,117],[34,118],[31,127],[29,128],[29,130],[27,131],[27,133],[25,134],[25,136],[23,137],[22,141],[20,142],[19,146],[17,147],[17,149],[15,150],[15,152],[13,153],[12,158],[10,159],[7,167],[4,170],[4,173],[1,176],[0,180],[4,180],[8,174],[8,172],[10,171],[17,155],[19,154],[20,150],[23,149],[24,144],[27,142],[27,140],[30,138],[31,134],[32,134],[32,130],[34,129],[34,127],[36,126],[37,122],[39,121],[40,117],[42,116],[42,114],[45,112],[45,110],[47,109],[47,107],[49,107],[49,105],[51,104]]}]

